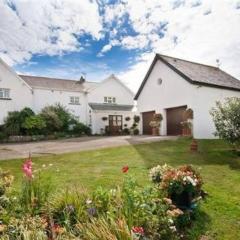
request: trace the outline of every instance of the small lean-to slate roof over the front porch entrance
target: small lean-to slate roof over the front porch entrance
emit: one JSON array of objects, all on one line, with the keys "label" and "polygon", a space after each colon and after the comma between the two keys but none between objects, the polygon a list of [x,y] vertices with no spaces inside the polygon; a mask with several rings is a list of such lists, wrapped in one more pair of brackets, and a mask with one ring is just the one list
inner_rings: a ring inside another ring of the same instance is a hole
[{"label": "small lean-to slate roof over the front porch entrance", "polygon": [[109,103],[89,103],[92,110],[104,110],[104,111],[131,111],[133,105],[122,104],[109,104]]}]

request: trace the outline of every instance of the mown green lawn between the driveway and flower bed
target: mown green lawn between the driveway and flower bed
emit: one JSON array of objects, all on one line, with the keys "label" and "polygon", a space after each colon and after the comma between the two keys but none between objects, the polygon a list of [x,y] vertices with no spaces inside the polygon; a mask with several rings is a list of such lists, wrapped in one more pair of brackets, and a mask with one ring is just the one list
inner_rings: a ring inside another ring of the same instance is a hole
[{"label": "mown green lawn between the driveway and flower bed", "polygon": [[[157,164],[172,166],[193,164],[204,179],[209,194],[202,203],[201,213],[191,239],[199,235],[209,239],[240,239],[240,157],[220,140],[199,141],[199,153],[190,153],[190,140],[162,141],[142,145],[33,158],[34,168],[53,164],[44,170],[51,176],[56,189],[69,185],[89,190],[99,185],[111,187],[122,181],[121,168],[130,167],[130,174],[142,184],[148,184],[148,169]],[[0,162],[0,167],[15,176],[15,186],[21,182],[23,160]]]}]

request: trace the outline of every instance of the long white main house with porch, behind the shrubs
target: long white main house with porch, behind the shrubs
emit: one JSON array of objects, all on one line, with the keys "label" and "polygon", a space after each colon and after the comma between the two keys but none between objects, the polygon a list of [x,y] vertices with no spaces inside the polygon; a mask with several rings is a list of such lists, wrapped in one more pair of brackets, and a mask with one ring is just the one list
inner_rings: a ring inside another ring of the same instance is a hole
[{"label": "long white main house with porch, behind the shrubs", "polygon": [[[133,123],[134,94],[114,75],[102,82],[17,75],[0,61],[0,124],[9,111],[36,113],[60,103],[94,134],[119,134]],[[130,120],[129,120],[130,119]]]}]

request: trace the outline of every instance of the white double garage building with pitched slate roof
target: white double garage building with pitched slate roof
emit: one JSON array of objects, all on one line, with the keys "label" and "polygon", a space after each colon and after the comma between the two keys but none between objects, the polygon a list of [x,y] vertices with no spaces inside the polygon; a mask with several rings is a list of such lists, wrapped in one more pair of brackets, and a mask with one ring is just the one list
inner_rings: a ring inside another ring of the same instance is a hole
[{"label": "white double garage building with pitched slate roof", "polygon": [[151,134],[149,122],[161,113],[162,135],[182,133],[183,112],[193,110],[195,138],[214,138],[209,111],[216,101],[240,97],[240,81],[213,66],[156,54],[136,96],[141,132]]}]

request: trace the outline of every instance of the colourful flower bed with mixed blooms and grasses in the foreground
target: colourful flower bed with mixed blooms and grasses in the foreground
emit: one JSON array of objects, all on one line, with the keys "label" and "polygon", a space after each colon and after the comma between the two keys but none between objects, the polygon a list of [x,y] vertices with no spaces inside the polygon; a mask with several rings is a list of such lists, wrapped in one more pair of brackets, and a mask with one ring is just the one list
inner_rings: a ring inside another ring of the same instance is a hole
[{"label": "colourful flower bed with mixed blooms and grasses in the foreground", "polygon": [[123,181],[112,189],[53,193],[51,182],[42,179],[31,159],[22,170],[18,193],[10,188],[13,177],[0,174],[0,199],[5,199],[0,208],[1,239],[180,239],[184,226],[179,221],[187,212],[174,194],[187,191],[194,199],[202,187],[191,166],[157,166],[150,171],[154,184],[146,187],[124,166]]}]

